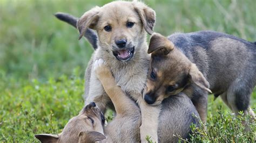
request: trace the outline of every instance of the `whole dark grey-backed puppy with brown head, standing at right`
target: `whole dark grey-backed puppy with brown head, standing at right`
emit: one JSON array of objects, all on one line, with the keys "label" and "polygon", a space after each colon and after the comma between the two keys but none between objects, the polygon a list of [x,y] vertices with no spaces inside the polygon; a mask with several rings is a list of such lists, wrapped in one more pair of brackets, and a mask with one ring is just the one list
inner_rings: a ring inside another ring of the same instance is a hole
[{"label": "whole dark grey-backed puppy with brown head, standing at right", "polygon": [[244,111],[255,118],[250,109],[256,83],[255,43],[213,31],[177,33],[168,38],[154,34],[148,53],[147,103],[158,105],[182,91],[206,121],[207,95],[212,91],[236,115]]}]

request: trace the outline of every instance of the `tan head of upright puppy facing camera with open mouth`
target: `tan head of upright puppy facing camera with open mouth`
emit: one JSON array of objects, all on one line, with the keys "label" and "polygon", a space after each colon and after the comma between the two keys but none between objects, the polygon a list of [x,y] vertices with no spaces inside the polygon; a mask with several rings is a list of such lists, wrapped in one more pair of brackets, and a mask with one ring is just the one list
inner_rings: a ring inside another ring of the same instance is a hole
[{"label": "tan head of upright puppy facing camera with open mouth", "polygon": [[97,31],[99,47],[110,58],[130,61],[146,42],[146,32],[153,33],[154,10],[142,2],[111,2],[84,13],[77,22],[83,37],[86,28]]}]

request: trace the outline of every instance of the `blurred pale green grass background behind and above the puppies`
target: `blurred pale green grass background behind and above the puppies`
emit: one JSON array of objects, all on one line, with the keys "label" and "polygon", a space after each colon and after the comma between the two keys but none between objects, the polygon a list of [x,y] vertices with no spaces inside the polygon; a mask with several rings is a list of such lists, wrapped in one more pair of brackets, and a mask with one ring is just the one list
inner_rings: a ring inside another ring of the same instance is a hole
[{"label": "blurred pale green grass background behind and above the puppies", "polygon": [[[86,68],[92,48],[78,32],[53,16],[67,12],[80,17],[95,5],[111,1],[0,1],[0,69],[16,78],[58,77]],[[256,2],[145,1],[157,13],[154,30],[174,32],[214,30],[256,41]],[[83,75],[84,71],[81,71]]]}]

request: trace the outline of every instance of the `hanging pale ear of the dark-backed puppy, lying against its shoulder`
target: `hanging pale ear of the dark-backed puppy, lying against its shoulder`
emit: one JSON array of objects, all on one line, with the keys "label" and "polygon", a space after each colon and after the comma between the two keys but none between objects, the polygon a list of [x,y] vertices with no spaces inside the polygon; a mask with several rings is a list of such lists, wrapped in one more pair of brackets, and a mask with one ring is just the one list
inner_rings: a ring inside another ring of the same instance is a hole
[{"label": "hanging pale ear of the dark-backed puppy, lying against its shoulder", "polygon": [[209,89],[209,82],[206,80],[204,75],[199,71],[196,64],[191,63],[188,76],[191,78],[191,82],[195,83],[198,87],[212,93],[212,91]]}]

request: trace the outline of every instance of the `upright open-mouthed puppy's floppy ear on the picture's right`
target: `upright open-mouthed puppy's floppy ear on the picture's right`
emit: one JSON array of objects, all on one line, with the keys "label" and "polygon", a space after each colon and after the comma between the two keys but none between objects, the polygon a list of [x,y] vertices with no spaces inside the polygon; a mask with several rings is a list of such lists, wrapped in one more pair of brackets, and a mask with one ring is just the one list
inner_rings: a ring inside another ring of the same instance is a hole
[{"label": "upright open-mouthed puppy's floppy ear on the picture's right", "polygon": [[140,19],[142,20],[146,32],[150,35],[153,34],[153,27],[156,23],[156,12],[142,2],[133,2],[133,5],[134,10],[138,13]]}]

